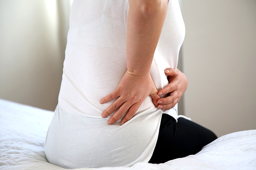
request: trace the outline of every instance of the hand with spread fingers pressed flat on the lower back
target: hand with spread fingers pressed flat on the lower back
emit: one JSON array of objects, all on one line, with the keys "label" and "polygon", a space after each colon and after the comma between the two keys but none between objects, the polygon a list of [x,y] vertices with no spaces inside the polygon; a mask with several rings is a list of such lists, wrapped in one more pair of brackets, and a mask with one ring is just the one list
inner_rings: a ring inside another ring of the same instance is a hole
[{"label": "hand with spread fingers pressed flat on the lower back", "polygon": [[108,119],[108,125],[111,125],[126,113],[120,123],[120,125],[123,125],[134,116],[148,95],[154,100],[160,98],[150,74],[135,75],[126,71],[116,90],[100,100],[100,103],[106,103],[118,97],[113,104],[102,112],[102,117],[105,118],[117,110]]}]

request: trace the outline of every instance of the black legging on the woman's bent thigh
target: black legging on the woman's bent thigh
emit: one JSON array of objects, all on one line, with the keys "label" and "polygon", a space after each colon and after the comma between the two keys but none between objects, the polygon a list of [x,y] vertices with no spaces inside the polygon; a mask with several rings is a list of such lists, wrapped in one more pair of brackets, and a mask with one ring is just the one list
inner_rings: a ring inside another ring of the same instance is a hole
[{"label": "black legging on the woman's bent thigh", "polygon": [[205,145],[217,139],[210,130],[190,120],[179,118],[178,122],[163,114],[157,144],[149,163],[160,164],[198,153]]}]

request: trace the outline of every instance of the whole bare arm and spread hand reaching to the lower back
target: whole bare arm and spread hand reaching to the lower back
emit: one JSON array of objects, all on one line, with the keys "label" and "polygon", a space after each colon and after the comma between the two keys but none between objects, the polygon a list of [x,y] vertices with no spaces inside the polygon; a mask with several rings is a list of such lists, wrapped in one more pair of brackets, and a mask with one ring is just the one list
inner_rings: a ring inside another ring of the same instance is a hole
[{"label": "whole bare arm and spread hand reaching to the lower back", "polygon": [[168,0],[129,0],[127,17],[126,54],[127,71],[118,87],[100,100],[106,103],[115,98],[102,117],[116,111],[108,120],[108,125],[115,123],[126,112],[120,125],[130,120],[145,98],[160,98],[149,74],[154,51],[163,28]]}]

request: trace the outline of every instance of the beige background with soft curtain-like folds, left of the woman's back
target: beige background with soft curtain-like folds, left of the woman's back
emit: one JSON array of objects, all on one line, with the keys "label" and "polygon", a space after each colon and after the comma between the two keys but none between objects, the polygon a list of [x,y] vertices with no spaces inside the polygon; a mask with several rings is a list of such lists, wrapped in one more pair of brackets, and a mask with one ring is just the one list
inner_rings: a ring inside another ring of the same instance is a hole
[{"label": "beige background with soft curtain-like folds, left of the woman's back", "polygon": [[54,110],[70,0],[0,0],[0,98]]}]

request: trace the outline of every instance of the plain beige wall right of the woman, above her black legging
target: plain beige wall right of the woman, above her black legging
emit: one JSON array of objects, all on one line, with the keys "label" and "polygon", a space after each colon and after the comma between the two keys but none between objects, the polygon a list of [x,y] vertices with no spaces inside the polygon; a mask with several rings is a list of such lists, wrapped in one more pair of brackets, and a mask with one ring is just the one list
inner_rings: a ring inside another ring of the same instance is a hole
[{"label": "plain beige wall right of the woman, above her black legging", "polygon": [[185,114],[218,136],[256,129],[256,1],[182,0]]}]

